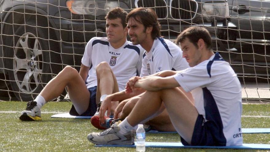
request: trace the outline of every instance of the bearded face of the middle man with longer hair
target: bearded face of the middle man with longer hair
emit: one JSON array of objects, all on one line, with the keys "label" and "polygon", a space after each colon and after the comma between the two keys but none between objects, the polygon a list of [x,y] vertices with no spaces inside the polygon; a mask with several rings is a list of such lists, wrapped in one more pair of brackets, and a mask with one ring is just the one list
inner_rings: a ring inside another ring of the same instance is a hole
[{"label": "bearded face of the middle man with longer hair", "polygon": [[133,45],[142,44],[146,39],[145,27],[135,18],[129,18],[127,28],[129,29],[129,37]]}]

